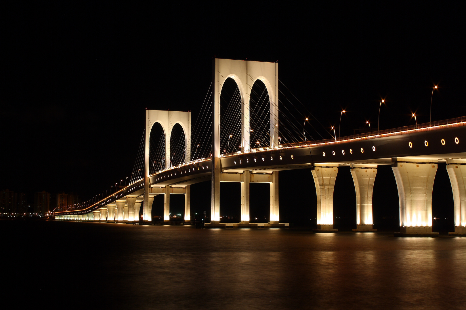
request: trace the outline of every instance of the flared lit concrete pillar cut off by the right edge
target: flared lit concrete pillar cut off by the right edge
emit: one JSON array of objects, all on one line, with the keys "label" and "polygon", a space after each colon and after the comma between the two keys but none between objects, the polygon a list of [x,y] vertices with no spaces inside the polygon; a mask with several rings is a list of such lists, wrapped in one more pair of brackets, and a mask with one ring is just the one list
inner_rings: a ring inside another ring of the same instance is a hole
[{"label": "flared lit concrete pillar cut off by the right edge", "polygon": [[466,159],[447,159],[446,171],[453,191],[455,231],[450,235],[466,235]]}]

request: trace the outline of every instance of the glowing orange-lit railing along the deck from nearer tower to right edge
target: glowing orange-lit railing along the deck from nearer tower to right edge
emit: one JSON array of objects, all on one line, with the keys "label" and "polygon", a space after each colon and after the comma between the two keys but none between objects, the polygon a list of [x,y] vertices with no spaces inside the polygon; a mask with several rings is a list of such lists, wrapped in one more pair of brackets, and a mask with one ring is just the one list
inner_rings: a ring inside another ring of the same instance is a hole
[{"label": "glowing orange-lit railing along the deck from nearer tower to right edge", "polygon": [[254,148],[249,151],[238,151],[238,152],[233,152],[233,153],[228,153],[228,154],[220,154],[220,157],[225,157],[225,156],[230,156],[230,155],[235,155],[235,154],[240,154],[240,153],[260,152],[260,151],[266,151],[266,150],[278,149],[278,148],[293,148],[293,147],[302,147],[305,145],[312,146],[312,145],[319,145],[319,144],[326,144],[326,143],[335,143],[339,141],[347,141],[347,140],[352,140],[352,139],[373,138],[373,137],[391,134],[391,133],[408,132],[408,131],[413,131],[413,130],[420,130],[420,129],[425,129],[425,128],[433,128],[433,127],[438,127],[438,126],[452,125],[452,124],[459,124],[459,123],[466,123],[466,116],[462,116],[462,117],[458,117],[454,119],[438,120],[434,122],[417,124],[417,125],[397,127],[397,128],[392,128],[392,129],[384,129],[384,130],[367,132],[367,133],[359,133],[356,135],[345,136],[345,137],[340,137],[336,139],[333,138],[333,139],[313,140],[313,141],[306,141],[306,142],[302,141],[302,142],[296,142],[296,143],[275,145],[273,147],[265,146],[265,147],[260,147],[260,148]]}]

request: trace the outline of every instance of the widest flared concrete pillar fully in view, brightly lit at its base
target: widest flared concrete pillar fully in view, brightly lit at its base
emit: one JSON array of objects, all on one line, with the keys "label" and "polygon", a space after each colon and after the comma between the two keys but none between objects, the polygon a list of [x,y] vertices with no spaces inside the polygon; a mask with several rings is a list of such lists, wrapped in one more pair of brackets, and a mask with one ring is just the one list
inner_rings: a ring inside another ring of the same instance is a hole
[{"label": "widest flared concrete pillar fully in view, brightly lit at its base", "polygon": [[392,170],[398,188],[400,232],[432,233],[432,189],[437,163],[397,161]]}]

